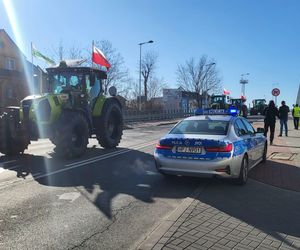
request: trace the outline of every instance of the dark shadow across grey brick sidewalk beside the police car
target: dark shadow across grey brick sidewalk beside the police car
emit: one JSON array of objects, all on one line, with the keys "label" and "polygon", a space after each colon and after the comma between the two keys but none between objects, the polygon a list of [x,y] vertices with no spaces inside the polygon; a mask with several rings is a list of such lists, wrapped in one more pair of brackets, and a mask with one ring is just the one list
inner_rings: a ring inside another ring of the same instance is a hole
[{"label": "dark shadow across grey brick sidewalk beside the police car", "polygon": [[299,193],[254,181],[233,188],[215,180],[198,199],[286,244],[285,234],[300,237]]}]

